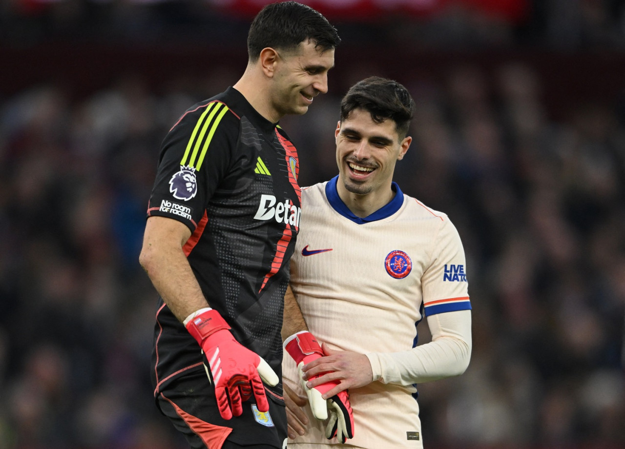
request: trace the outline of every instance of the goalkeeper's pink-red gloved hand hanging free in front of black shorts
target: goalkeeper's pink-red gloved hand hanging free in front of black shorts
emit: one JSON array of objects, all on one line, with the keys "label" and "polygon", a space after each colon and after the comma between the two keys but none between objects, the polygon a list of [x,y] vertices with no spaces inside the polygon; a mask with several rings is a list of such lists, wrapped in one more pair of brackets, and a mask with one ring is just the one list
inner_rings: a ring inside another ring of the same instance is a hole
[{"label": "goalkeeper's pink-red gloved hand hanging free in front of black shorts", "polygon": [[271,387],[277,385],[279,379],[274,370],[257,353],[234,339],[230,326],[217,310],[207,308],[198,312],[201,313],[190,315],[184,324],[202,348],[204,369],[215,386],[221,417],[229,420],[241,416],[242,402],[252,395],[259,412],[268,412],[269,402],[262,382]]}]

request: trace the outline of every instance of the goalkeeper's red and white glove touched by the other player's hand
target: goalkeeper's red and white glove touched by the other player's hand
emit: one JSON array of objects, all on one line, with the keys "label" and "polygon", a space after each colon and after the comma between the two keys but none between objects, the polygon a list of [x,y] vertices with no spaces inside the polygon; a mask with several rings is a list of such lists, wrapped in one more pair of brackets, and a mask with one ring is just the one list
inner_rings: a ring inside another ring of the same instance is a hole
[{"label": "goalkeeper's red and white glove touched by the other player's hand", "polygon": [[[339,385],[339,382],[331,381],[313,388],[306,387],[307,381],[303,378],[302,367],[306,363],[324,355],[316,338],[307,331],[297,332],[286,339],[284,348],[297,363],[299,380],[302,387],[304,387],[304,391],[306,391],[312,415],[318,420],[326,420],[328,412],[330,413],[330,419],[326,425],[326,438],[331,440],[336,436],[341,443],[344,443],[347,438],[353,438],[354,415],[349,404],[349,393],[347,390],[325,400],[321,395]],[[323,374],[320,373],[316,377]]]}]

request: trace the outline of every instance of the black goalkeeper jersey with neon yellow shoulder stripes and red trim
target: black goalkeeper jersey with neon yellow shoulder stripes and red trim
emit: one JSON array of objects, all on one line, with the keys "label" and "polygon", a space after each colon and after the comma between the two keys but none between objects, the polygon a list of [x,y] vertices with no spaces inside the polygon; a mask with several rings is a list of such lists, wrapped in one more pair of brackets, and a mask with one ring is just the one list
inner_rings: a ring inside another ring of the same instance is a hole
[{"label": "black goalkeeper jersey with neon yellow shoulder stripes and red trim", "polygon": [[[301,211],[298,172],[284,131],[229,87],[188,109],[169,131],[148,206],[148,216],[191,229],[184,252],[204,296],[280,378],[283,299]],[[159,298],[154,394],[194,370],[204,370],[200,348]]]}]

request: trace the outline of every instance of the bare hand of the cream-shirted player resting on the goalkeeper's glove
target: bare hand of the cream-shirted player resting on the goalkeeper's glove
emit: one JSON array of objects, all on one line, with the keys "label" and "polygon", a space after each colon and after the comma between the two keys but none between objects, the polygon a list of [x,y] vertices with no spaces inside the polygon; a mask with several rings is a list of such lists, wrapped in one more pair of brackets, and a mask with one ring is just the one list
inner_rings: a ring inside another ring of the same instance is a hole
[{"label": "bare hand of the cream-shirted player resting on the goalkeeper's glove", "polygon": [[371,363],[366,355],[357,352],[336,351],[322,347],[326,357],[316,357],[302,366],[307,388],[317,388],[324,383],[334,383],[334,387],[323,393],[329,398],[347,388],[359,388],[373,382]]}]

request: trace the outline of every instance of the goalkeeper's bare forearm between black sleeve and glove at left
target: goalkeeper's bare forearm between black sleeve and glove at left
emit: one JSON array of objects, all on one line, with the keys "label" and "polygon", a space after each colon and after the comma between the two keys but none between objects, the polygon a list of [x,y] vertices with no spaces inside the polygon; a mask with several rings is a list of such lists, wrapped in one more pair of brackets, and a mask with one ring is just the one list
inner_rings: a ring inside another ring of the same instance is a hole
[{"label": "goalkeeper's bare forearm between black sleeve and glove at left", "polygon": [[139,255],[139,263],[154,288],[180,322],[196,310],[209,307],[183,251],[189,237],[191,230],[182,222],[149,217]]}]

